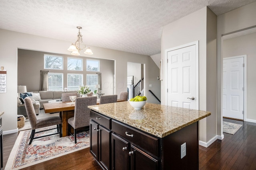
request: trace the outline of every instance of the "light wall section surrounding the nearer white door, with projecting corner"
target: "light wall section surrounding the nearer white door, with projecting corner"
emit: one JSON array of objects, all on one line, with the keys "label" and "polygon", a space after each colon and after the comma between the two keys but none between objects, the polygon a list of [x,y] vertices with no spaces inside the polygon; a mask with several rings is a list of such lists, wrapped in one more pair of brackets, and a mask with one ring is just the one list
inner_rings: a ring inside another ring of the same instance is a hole
[{"label": "light wall section surrounding the nearer white door, with projecting corner", "polygon": [[161,83],[162,104],[167,104],[167,55],[164,51],[183,44],[199,41],[199,109],[212,112],[212,115],[200,121],[199,140],[205,145],[210,145],[210,143],[216,140],[217,129],[216,22],[216,15],[207,7],[204,7],[164,26],[161,39],[161,59],[164,60],[165,70]]}]

